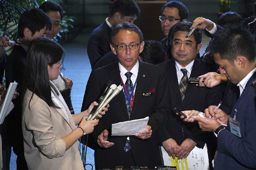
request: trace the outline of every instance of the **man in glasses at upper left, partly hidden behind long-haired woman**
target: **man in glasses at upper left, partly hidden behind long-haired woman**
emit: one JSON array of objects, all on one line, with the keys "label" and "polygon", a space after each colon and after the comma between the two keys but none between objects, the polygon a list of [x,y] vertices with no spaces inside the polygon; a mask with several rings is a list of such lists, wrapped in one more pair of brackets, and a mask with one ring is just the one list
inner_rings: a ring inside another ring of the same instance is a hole
[{"label": "man in glasses at upper left, partly hidden behind long-haired woman", "polygon": [[[52,1],[45,1],[43,4],[39,6],[39,8],[42,9],[52,19],[52,29],[49,31],[46,37],[53,39],[60,31],[61,20],[63,18],[63,9],[59,4],[56,4],[55,2]],[[73,108],[70,97],[70,89],[72,89],[73,81],[70,78],[63,75],[61,71],[58,79],[52,80],[52,82],[60,91],[62,97],[68,105],[68,108]]]}]

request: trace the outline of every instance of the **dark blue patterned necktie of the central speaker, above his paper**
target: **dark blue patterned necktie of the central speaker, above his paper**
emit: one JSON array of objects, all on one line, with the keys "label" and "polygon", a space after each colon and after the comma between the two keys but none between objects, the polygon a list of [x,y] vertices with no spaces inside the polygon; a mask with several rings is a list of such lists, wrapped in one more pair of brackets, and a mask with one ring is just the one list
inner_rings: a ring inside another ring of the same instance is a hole
[{"label": "dark blue patterned necktie of the central speaker, above his paper", "polygon": [[[127,90],[129,98],[131,98],[131,103],[132,103],[132,101],[133,101],[133,95],[131,95],[132,94],[132,88],[133,88],[133,84],[132,84],[132,80],[131,80],[132,73],[131,72],[126,72],[124,75],[127,77],[127,80],[125,81],[125,88]],[[129,119],[130,119],[130,115],[131,115],[131,112],[132,112],[132,106],[131,106],[131,104],[129,103],[129,101],[126,97],[125,97],[125,104],[126,104],[127,112],[128,112]]]}]

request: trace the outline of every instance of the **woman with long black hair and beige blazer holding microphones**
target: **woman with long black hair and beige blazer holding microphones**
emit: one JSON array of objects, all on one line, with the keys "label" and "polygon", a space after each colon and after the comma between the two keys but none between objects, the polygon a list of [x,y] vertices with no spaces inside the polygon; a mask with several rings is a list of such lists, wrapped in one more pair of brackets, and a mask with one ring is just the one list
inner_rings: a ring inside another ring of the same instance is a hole
[{"label": "woman with long black hair and beige blazer holding microphones", "polygon": [[37,38],[28,48],[22,111],[28,169],[84,169],[77,140],[84,133],[91,133],[98,124],[99,120],[85,120],[97,103],[92,103],[84,112],[70,114],[51,81],[59,76],[63,59],[63,48],[48,38]]}]

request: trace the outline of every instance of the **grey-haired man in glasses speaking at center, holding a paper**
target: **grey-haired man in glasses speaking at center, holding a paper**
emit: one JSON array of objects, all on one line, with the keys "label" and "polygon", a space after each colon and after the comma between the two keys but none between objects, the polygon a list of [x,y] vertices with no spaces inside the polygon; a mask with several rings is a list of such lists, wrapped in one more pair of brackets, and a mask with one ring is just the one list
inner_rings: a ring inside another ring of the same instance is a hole
[{"label": "grey-haired man in glasses speaking at center, holding a paper", "polygon": [[[154,168],[157,165],[157,131],[170,112],[170,93],[165,70],[138,60],[143,46],[143,35],[137,26],[129,22],[116,25],[111,32],[111,49],[118,61],[93,70],[90,76],[82,110],[97,99],[108,80],[115,84],[124,82],[124,90],[109,103],[108,113],[94,128],[93,136],[99,144],[95,151],[97,168],[115,168],[117,165]],[[113,123],[147,116],[147,128],[140,133],[111,136]]]}]

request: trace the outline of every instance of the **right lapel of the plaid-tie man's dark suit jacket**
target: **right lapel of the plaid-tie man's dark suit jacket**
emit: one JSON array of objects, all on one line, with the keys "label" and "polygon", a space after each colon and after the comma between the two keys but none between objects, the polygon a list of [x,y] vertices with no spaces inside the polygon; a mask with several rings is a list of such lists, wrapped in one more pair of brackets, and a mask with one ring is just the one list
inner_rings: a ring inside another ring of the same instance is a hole
[{"label": "right lapel of the plaid-tie man's dark suit jacket", "polygon": [[[200,65],[201,65],[201,62],[198,59],[195,59],[194,64],[192,66],[190,77],[198,77],[199,76],[200,69],[198,69],[198,68],[200,68]],[[191,92],[193,91],[194,86],[196,86],[196,83],[188,83],[183,104],[186,104],[187,102],[189,102],[188,101],[189,96],[191,95]]]}]

